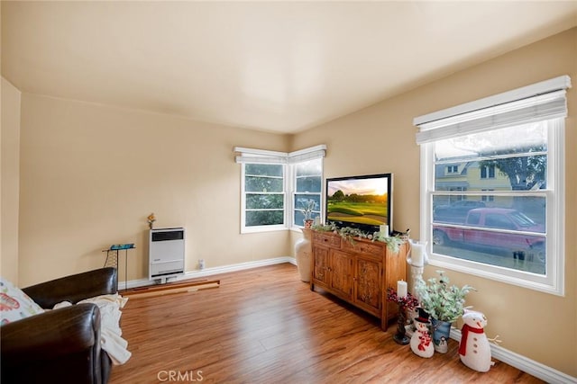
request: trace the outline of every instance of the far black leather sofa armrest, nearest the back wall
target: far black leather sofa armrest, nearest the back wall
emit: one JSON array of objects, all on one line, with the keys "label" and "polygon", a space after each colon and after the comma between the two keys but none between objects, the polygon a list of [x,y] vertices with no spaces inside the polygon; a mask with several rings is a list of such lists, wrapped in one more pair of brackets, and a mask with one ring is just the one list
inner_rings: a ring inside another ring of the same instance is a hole
[{"label": "far black leather sofa armrest, nearest the back wall", "polygon": [[116,268],[106,267],[41,282],[23,291],[41,308],[52,308],[61,301],[76,304],[83,299],[116,293],[117,283]]}]

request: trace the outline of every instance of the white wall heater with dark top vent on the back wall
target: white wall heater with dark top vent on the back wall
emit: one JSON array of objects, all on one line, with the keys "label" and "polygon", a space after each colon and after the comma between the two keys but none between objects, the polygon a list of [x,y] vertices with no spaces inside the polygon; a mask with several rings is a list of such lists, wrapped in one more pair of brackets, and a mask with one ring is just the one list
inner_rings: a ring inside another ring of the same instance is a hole
[{"label": "white wall heater with dark top vent on the back wall", "polygon": [[184,274],[185,228],[158,228],[150,231],[149,280],[164,283]]}]

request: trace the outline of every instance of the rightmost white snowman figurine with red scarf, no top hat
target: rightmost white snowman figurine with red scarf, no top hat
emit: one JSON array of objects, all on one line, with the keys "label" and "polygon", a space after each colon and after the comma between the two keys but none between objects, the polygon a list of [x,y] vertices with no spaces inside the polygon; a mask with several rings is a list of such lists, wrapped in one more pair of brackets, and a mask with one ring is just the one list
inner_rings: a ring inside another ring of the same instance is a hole
[{"label": "rightmost white snowman figurine with red scarf, no top hat", "polygon": [[481,312],[465,309],[463,322],[461,344],[459,344],[461,361],[474,371],[489,371],[495,362],[490,360],[489,339],[483,329],[487,326],[487,317]]}]

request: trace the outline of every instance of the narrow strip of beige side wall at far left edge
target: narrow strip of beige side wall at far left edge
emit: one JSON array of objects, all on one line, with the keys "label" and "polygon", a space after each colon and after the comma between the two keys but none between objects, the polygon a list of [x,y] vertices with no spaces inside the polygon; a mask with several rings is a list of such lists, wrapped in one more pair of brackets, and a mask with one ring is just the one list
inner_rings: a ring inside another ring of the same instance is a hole
[{"label": "narrow strip of beige side wall at far left edge", "polygon": [[0,274],[18,284],[21,93],[2,77],[2,218]]}]

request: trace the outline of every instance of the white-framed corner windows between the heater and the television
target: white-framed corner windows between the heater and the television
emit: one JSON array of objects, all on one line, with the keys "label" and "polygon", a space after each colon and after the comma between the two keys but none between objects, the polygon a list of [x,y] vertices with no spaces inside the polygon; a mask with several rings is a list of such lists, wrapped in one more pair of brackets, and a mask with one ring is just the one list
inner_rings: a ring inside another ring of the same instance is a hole
[{"label": "white-framed corner windows between the heater and the television", "polygon": [[241,232],[286,229],[321,215],[325,146],[296,152],[235,147],[242,165]]}]

